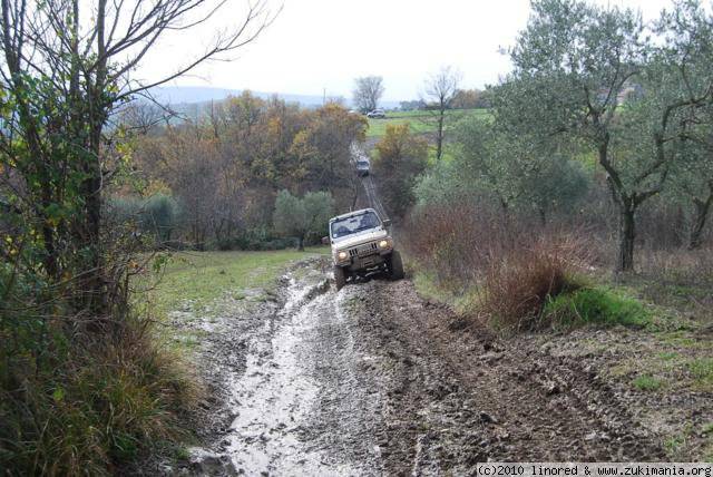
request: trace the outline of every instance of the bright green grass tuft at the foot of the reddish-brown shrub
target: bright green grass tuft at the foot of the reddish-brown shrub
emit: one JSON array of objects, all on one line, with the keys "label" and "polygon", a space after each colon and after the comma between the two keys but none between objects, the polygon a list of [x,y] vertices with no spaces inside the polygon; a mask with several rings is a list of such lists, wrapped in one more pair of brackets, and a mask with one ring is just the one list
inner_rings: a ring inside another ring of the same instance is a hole
[{"label": "bright green grass tuft at the foot of the reddish-brown shrub", "polygon": [[652,313],[635,298],[609,288],[584,288],[560,294],[543,310],[553,324],[596,323],[644,328],[652,324]]}]

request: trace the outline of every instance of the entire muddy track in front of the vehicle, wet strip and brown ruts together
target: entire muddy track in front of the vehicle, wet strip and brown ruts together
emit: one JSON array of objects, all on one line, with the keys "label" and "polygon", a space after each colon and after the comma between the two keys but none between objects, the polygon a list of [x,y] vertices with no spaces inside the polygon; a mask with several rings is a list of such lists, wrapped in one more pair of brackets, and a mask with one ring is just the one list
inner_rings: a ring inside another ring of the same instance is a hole
[{"label": "entire muddy track in front of the vehicle, wet strip and brown ruts together", "polygon": [[[178,475],[472,475],[486,460],[661,460],[577,359],[499,340],[408,281],[336,292],[323,260],[209,325],[215,397]],[[201,327],[201,324],[196,324]]]}]

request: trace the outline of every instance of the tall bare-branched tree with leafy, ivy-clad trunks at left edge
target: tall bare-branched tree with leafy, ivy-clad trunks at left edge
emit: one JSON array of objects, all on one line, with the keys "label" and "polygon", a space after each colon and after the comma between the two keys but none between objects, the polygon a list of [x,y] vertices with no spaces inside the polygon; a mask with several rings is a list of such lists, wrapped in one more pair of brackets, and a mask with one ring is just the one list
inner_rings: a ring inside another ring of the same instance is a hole
[{"label": "tall bare-branched tree with leafy, ivy-clad trunks at left edge", "polygon": [[134,96],[207,60],[226,59],[225,53],[253,41],[274,18],[265,0],[255,0],[238,25],[217,31],[203,51],[184,57],[172,71],[146,82],[131,76],[159,39],[202,27],[232,4],[0,0],[0,89],[12,108],[3,117],[0,148],[23,178],[20,199],[39,224],[45,270],[56,280],[69,267],[81,276],[77,290],[82,308],[99,310],[106,301],[101,198],[116,165],[105,126]]}]

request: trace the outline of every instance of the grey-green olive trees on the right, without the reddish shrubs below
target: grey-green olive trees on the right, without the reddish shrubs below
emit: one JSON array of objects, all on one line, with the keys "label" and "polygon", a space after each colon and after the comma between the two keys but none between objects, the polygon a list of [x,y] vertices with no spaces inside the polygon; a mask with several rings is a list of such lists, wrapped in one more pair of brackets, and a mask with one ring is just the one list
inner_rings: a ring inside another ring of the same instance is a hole
[{"label": "grey-green olive trees on the right, without the reddish shrubs below", "polygon": [[492,121],[453,128],[453,160],[423,177],[417,210],[490,202],[506,218],[600,225],[622,271],[635,244],[702,246],[713,20],[697,2],[647,25],[631,10],[537,1],[511,58],[515,70],[489,89]]}]

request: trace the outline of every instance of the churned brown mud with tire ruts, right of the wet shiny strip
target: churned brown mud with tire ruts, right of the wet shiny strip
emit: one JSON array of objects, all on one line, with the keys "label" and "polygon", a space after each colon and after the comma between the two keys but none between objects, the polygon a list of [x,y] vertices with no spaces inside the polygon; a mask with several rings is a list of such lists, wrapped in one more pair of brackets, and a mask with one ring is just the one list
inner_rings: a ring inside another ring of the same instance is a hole
[{"label": "churned brown mud with tire ruts, right of the wet shiny strip", "polygon": [[400,436],[390,473],[468,475],[488,459],[664,457],[592,370],[526,339],[499,340],[477,324],[458,330],[449,310],[421,301],[409,282],[365,288],[364,308],[378,310],[365,314],[381,323],[377,342],[391,350],[387,367],[399,368],[387,403]]}]

